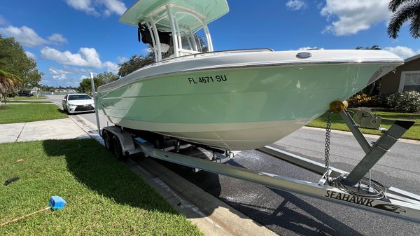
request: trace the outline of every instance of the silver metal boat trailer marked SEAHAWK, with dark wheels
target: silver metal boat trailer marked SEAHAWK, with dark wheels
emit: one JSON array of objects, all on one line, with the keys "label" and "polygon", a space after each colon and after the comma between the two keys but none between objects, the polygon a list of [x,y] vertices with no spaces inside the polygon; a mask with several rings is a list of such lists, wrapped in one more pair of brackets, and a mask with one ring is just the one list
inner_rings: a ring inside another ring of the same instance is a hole
[{"label": "silver metal boat trailer marked SEAHAWK, with dark wheels", "polygon": [[[92,77],[92,76],[91,76]],[[92,86],[94,91],[94,87]],[[97,106],[95,106],[97,109]],[[402,218],[408,221],[420,223],[420,195],[408,193],[398,188],[386,188],[381,183],[370,179],[370,169],[389,151],[391,146],[404,134],[409,127],[414,125],[414,121],[395,120],[393,125],[388,129],[381,129],[381,136],[372,145],[365,139],[360,127],[369,125],[358,125],[351,118],[349,111],[346,111],[346,105],[342,102],[333,102],[330,111],[339,113],[346,125],[349,127],[353,136],[360,144],[365,152],[365,156],[360,160],[358,165],[351,172],[345,172],[341,169],[329,167],[329,132],[330,120],[327,123],[327,134],[325,144],[325,164],[302,158],[299,155],[288,153],[286,151],[265,146],[258,148],[258,151],[267,153],[293,165],[302,167],[311,172],[321,175],[318,183],[303,181],[300,179],[291,179],[286,176],[279,176],[266,172],[255,172],[243,167],[235,167],[224,165],[233,157],[230,151],[218,151],[216,148],[207,147],[211,151],[208,160],[200,159],[189,155],[183,155],[179,151],[189,146],[197,146],[196,144],[188,144],[181,140],[172,139],[169,142],[162,142],[162,139],[148,141],[143,139],[141,135],[134,134],[130,130],[119,126],[108,126],[102,129],[102,138],[109,151],[113,152],[120,160],[127,160],[129,155],[141,153],[146,157],[174,162],[179,165],[192,167],[195,171],[204,170],[215,174],[223,174],[237,179],[260,183],[269,188],[285,190],[290,193],[299,193],[310,197],[316,197],[322,200],[344,204],[349,207],[356,207],[367,211],[374,211],[379,214]],[[97,114],[97,125],[100,130],[99,118]],[[371,113],[358,114],[363,124],[370,124],[379,127],[377,124],[378,117]],[[330,112],[328,113],[330,117]],[[159,144],[160,141],[160,144]],[[162,145],[164,144],[165,145]],[[169,144],[169,145],[168,145]],[[209,161],[210,160],[210,161]],[[366,178],[365,175],[369,174]]]}]

